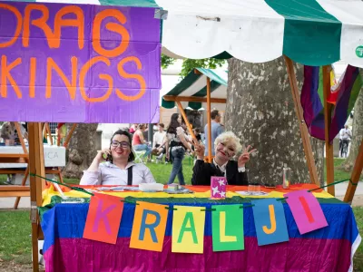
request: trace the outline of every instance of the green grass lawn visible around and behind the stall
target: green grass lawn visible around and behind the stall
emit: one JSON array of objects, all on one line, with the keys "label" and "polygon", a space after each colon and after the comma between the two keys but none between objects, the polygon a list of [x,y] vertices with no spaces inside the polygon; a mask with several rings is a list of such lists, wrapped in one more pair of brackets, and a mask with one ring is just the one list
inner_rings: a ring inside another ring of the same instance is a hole
[{"label": "green grass lawn visible around and behind the stall", "polygon": [[[337,167],[342,160],[335,160],[335,167]],[[155,164],[149,163],[148,167],[152,170],[155,180],[158,182],[166,183],[172,171],[171,164]],[[187,184],[191,183],[192,160],[186,158],[183,161],[183,173]],[[335,170],[335,180],[348,179],[350,173]],[[6,180],[5,175],[0,175],[0,184]],[[65,179],[67,183],[78,184],[79,180]],[[358,228],[363,230],[363,207],[353,208],[356,215]],[[31,224],[29,220],[29,211],[27,210],[14,210],[14,211],[1,211],[0,210],[0,270],[2,264],[8,264],[10,261],[16,265],[29,265],[31,263]],[[360,232],[363,236],[363,231]],[[354,257],[355,271],[363,271],[363,247],[358,248],[358,252]],[[13,271],[13,270],[11,270]],[[19,270],[23,271],[23,269]],[[24,269],[25,271],[25,269]]]}]

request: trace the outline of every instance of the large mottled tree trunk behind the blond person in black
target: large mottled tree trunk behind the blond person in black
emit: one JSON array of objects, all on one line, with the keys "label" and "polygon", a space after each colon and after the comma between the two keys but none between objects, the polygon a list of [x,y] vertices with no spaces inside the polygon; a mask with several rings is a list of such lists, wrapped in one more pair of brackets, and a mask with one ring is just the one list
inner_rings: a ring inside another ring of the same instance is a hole
[{"label": "large mottled tree trunk behind the blond person in black", "polygon": [[[301,65],[295,65],[299,90]],[[282,57],[270,63],[229,61],[229,85],[225,115],[226,130],[233,131],[242,145],[258,151],[246,166],[250,182],[281,184],[282,169],[291,168],[291,183],[309,183],[309,170],[299,123]],[[320,183],[324,142],[311,141]]]}]

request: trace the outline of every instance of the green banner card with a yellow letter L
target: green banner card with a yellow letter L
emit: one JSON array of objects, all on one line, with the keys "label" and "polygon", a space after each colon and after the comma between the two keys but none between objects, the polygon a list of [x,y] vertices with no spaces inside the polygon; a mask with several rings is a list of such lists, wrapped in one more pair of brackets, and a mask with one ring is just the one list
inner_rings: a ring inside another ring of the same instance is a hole
[{"label": "green banner card with a yellow letter L", "polygon": [[243,209],[240,205],[214,205],[211,212],[213,251],[244,249]]}]

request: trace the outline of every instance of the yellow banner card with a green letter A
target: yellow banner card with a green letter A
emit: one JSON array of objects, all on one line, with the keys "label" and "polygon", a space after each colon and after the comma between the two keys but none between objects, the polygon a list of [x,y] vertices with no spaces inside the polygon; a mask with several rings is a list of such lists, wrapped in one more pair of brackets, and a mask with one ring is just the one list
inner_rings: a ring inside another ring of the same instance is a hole
[{"label": "yellow banner card with a green letter A", "polygon": [[174,206],[172,252],[203,253],[204,207]]}]

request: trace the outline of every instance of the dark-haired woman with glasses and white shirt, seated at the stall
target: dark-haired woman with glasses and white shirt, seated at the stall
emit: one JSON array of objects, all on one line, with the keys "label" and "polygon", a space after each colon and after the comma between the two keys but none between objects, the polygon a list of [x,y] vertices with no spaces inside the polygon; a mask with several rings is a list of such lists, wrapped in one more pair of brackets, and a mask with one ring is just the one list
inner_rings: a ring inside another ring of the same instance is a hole
[{"label": "dark-haired woman with glasses and white shirt, seated at the stall", "polygon": [[152,172],[142,163],[134,163],[132,136],[128,131],[114,132],[110,149],[98,151],[81,185],[137,185],[154,183]]}]

